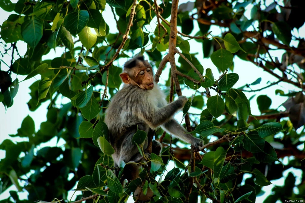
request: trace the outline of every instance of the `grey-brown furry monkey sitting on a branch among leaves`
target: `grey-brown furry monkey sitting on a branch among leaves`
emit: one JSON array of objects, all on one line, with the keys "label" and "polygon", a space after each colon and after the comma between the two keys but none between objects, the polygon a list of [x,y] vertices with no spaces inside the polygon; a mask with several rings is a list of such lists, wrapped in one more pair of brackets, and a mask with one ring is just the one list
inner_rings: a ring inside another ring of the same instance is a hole
[{"label": "grey-brown furry monkey sitting on a branch among leaves", "polygon": [[[173,118],[174,114],[184,107],[188,98],[180,96],[176,101],[167,104],[164,93],[154,83],[152,66],[144,56],[138,55],[125,62],[120,77],[124,85],[110,99],[104,121],[109,129],[110,144],[115,150],[112,155],[114,166],[120,166],[122,161],[126,163],[124,176],[127,180],[139,177],[137,163],[143,160],[136,144],[132,142],[137,129],[147,134],[161,126],[182,141],[195,147],[202,145],[201,139],[187,134],[184,127]],[[144,151],[147,143],[148,138],[141,144]],[[161,149],[162,145],[153,140],[152,152],[159,155]]]}]

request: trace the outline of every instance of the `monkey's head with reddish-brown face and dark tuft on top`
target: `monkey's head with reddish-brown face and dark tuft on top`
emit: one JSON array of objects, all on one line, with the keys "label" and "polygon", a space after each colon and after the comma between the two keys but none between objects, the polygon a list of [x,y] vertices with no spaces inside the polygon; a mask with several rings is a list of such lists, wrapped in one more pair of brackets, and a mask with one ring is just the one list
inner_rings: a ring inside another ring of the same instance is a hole
[{"label": "monkey's head with reddish-brown face and dark tuft on top", "polygon": [[120,77],[125,84],[135,85],[143,90],[152,90],[154,87],[152,67],[143,56],[128,60]]}]

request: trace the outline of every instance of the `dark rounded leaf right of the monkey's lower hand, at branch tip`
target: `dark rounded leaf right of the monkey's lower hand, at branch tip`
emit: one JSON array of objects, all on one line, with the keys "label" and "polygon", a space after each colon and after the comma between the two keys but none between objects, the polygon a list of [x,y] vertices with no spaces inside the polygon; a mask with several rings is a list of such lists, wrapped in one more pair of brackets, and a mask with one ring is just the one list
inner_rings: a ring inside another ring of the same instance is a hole
[{"label": "dark rounded leaf right of the monkey's lower hand, at branch tip", "polygon": [[264,139],[258,136],[257,131],[251,131],[244,135],[242,142],[244,143],[244,148],[252,153],[262,152],[265,145]]}]

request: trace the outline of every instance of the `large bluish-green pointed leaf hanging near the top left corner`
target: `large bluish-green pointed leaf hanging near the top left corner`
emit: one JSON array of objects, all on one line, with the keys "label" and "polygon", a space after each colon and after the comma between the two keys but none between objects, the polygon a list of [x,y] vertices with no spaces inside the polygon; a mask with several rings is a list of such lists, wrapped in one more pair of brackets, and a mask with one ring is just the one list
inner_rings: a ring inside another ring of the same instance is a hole
[{"label": "large bluish-green pointed leaf hanging near the top left corner", "polygon": [[31,47],[36,47],[42,37],[43,23],[36,16],[30,16],[30,20],[24,21],[21,25],[23,40]]}]

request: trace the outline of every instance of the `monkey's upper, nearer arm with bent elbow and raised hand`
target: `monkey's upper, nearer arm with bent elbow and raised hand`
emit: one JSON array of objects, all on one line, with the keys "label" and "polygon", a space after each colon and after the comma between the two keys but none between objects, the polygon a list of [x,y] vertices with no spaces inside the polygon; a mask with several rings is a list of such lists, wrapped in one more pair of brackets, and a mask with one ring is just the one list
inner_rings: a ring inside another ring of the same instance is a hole
[{"label": "monkey's upper, nearer arm with bent elbow and raised hand", "polygon": [[181,109],[188,98],[185,96],[179,97],[176,101],[163,106],[162,108],[157,108],[151,104],[145,105],[142,102],[140,108],[135,107],[136,114],[140,119],[143,119],[145,123],[149,125],[150,128],[156,128],[164,123],[166,123],[174,114]]}]

